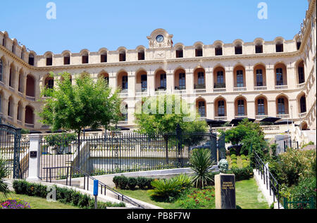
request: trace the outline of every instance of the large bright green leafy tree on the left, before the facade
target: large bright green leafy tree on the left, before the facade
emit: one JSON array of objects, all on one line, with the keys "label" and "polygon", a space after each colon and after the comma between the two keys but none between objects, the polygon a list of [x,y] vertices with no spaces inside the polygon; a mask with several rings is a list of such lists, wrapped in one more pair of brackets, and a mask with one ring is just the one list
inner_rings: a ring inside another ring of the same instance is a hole
[{"label": "large bright green leafy tree on the left, before the facade", "polygon": [[73,130],[80,140],[83,128],[111,129],[111,124],[122,119],[118,91],[112,93],[104,79],[94,82],[89,75],[80,75],[72,84],[69,73],[60,75],[56,87],[42,89],[42,96],[46,97],[39,117],[44,125],[51,125],[53,131]]}]

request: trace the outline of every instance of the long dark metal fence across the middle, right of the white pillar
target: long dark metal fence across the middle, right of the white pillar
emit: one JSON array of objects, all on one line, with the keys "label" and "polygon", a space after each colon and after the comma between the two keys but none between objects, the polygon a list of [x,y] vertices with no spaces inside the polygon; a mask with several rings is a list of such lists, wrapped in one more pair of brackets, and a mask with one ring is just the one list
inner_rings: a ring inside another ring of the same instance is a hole
[{"label": "long dark metal fence across the middle, right of the white pillar", "polygon": [[66,179],[69,166],[89,175],[189,167],[194,148],[209,148],[216,154],[216,144],[216,134],[185,133],[180,129],[153,135],[108,132],[102,137],[59,142],[58,146],[44,137],[40,177],[45,179],[50,170],[52,179]]}]

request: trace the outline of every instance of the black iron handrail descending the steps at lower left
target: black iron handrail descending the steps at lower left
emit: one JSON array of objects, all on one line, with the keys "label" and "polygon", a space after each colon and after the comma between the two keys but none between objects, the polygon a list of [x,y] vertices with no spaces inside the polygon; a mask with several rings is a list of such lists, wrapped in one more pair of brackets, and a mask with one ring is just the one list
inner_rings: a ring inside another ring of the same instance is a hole
[{"label": "black iron handrail descending the steps at lower left", "polygon": [[[84,190],[89,191],[89,179],[92,181],[97,180],[96,178],[90,176],[87,174],[87,172],[84,172],[80,170],[78,167],[46,167],[44,170],[46,170],[46,182],[50,182],[52,180],[51,177],[51,171],[52,170],[57,170],[57,169],[67,169],[67,174],[66,174],[66,185],[67,186],[72,186],[72,179],[73,177],[84,177]],[[68,180],[69,179],[69,180]],[[68,185],[69,183],[69,185]],[[119,193],[115,189],[112,189],[110,186],[107,186],[106,184],[102,183],[101,181],[98,180],[99,186],[101,188],[100,193],[104,194],[106,196],[106,190],[111,191],[118,200],[124,201],[126,203],[130,203],[132,205],[135,205],[137,208],[142,208],[144,207],[140,205],[139,203],[135,202],[134,200],[128,198],[127,196],[123,195],[122,193]]]}]

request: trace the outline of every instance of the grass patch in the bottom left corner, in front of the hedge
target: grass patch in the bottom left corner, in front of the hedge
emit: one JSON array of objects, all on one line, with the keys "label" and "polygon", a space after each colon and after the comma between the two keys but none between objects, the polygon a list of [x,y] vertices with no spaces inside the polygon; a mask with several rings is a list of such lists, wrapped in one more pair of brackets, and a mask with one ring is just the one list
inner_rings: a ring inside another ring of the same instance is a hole
[{"label": "grass patch in the bottom left corner, in front of the hedge", "polygon": [[[79,209],[73,205],[66,205],[61,202],[48,202],[44,198],[30,197],[23,194],[9,193],[8,198],[23,199],[25,202],[30,203],[32,209]],[[0,194],[0,200],[6,200],[2,194]]]}]

